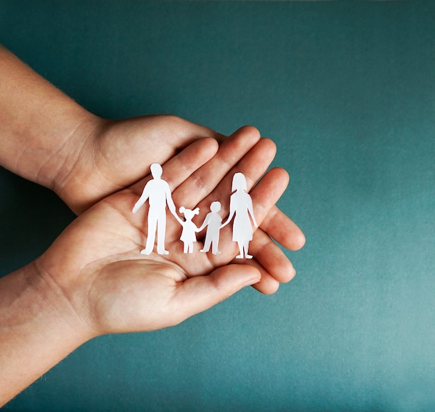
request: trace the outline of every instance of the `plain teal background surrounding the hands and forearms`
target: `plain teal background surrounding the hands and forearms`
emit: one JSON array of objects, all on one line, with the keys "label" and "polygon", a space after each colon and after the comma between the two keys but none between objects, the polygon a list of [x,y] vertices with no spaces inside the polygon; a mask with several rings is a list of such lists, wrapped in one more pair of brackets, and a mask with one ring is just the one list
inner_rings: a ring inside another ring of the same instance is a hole
[{"label": "plain teal background surrounding the hands and forearms", "polygon": [[[0,41],[93,113],[258,127],[307,238],[276,294],[92,340],[2,411],[434,411],[434,17],[429,1],[0,1]],[[0,191],[7,274],[74,215],[6,170]]]}]

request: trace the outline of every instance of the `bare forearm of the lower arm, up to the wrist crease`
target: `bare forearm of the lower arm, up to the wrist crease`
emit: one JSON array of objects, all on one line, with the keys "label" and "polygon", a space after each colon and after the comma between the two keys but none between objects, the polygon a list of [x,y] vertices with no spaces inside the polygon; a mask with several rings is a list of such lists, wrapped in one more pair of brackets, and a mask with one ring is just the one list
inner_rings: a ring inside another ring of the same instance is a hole
[{"label": "bare forearm of the lower arm, up to the wrist crease", "polygon": [[92,338],[34,262],[0,279],[0,406]]}]

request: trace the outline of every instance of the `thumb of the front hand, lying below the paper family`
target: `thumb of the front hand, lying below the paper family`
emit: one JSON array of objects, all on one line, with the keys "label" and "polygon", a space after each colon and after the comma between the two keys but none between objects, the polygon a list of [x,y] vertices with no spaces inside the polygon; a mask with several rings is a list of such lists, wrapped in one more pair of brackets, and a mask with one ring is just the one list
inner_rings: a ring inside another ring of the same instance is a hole
[{"label": "thumb of the front hand, lying below the paper family", "polygon": [[222,266],[206,276],[192,277],[180,283],[172,300],[177,305],[173,313],[182,322],[260,280],[260,271],[250,265]]}]

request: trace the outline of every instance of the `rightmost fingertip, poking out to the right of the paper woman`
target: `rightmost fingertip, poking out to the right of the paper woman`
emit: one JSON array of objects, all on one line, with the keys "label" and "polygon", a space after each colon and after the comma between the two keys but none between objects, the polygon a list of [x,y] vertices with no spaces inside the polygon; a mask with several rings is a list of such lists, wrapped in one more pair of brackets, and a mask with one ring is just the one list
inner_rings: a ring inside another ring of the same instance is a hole
[{"label": "rightmost fingertip, poking out to the right of the paper woman", "polygon": [[270,209],[260,227],[286,249],[299,250],[305,245],[304,233],[277,206]]}]

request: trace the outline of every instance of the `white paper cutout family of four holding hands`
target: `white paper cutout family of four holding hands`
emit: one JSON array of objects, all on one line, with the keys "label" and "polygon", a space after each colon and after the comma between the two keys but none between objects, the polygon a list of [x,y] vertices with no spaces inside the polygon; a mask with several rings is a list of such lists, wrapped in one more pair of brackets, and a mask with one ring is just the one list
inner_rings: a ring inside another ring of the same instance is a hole
[{"label": "white paper cutout family of four holding hands", "polygon": [[237,258],[252,258],[248,254],[249,242],[252,240],[253,230],[252,223],[258,227],[254,217],[252,207],[252,199],[247,193],[247,185],[245,175],[236,173],[233,176],[231,187],[232,195],[229,200],[229,216],[222,224],[222,217],[219,215],[221,204],[219,201],[213,201],[210,205],[210,213],[206,215],[204,222],[200,227],[197,227],[192,222],[195,215],[199,215],[199,208],[194,210],[187,209],[183,206],[179,208],[179,213],[184,215],[185,220],[181,220],[172,200],[171,190],[167,181],[162,179],[163,169],[158,163],[151,165],[152,179],[148,181],[143,189],[142,195],[133,207],[133,213],[136,213],[140,207],[148,200],[148,236],[145,249],[141,250],[141,254],[151,254],[154,249],[157,232],[157,253],[169,254],[165,249],[165,233],[166,233],[166,206],[169,208],[172,215],[183,227],[180,240],[183,242],[183,252],[193,253],[193,243],[197,241],[196,233],[207,228],[204,247],[201,252],[211,252],[215,255],[221,252],[218,249],[220,229],[227,226],[234,218],[233,222],[233,242],[237,242],[239,252]]}]

